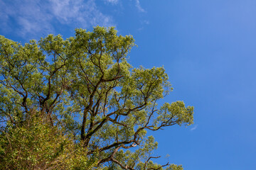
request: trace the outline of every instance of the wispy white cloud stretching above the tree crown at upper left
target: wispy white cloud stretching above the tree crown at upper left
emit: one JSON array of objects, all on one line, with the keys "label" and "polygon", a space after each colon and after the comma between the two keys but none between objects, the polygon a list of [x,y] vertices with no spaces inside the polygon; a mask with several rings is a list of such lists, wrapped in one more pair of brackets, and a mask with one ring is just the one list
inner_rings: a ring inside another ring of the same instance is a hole
[{"label": "wispy white cloud stretching above the tree crown at upper left", "polygon": [[54,33],[56,22],[82,28],[113,25],[112,17],[102,13],[95,0],[0,1],[0,22],[4,26],[0,29],[23,37]]}]

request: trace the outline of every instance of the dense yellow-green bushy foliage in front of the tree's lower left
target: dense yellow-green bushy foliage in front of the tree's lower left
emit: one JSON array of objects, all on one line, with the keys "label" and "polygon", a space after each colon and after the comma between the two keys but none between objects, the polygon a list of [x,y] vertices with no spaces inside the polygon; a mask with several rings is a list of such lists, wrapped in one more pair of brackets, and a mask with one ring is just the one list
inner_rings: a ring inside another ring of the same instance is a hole
[{"label": "dense yellow-green bushy foliage in front of the tree's lower left", "polygon": [[[26,120],[25,125],[11,125],[1,131],[0,169],[93,169],[95,157],[75,145],[72,137],[57,127],[42,122],[41,117]],[[84,167],[84,168],[82,168]]]}]

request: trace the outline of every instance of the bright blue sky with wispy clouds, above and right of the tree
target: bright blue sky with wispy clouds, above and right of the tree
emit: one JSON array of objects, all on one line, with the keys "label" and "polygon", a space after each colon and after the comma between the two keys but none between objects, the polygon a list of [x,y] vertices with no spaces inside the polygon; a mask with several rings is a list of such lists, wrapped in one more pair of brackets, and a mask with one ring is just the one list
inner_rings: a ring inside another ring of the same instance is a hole
[{"label": "bright blue sky with wispy clouds, above and right of the tree", "polygon": [[164,65],[174,87],[164,100],[195,107],[191,127],[153,133],[159,163],[256,169],[256,1],[0,0],[0,23],[1,35],[22,43],[97,25],[133,35],[129,62]]}]

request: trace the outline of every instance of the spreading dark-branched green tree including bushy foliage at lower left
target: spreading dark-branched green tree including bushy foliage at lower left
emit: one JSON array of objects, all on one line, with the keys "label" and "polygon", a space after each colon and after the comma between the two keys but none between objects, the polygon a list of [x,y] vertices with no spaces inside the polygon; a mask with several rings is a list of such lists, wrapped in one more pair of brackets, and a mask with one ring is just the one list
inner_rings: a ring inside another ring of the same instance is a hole
[{"label": "spreading dark-branched green tree including bushy foliage at lower left", "polygon": [[152,162],[157,142],[146,132],[191,125],[193,107],[158,106],[172,90],[168,76],[133,68],[133,46],[131,35],[101,27],[25,45],[1,36],[1,167],[182,169]]}]

